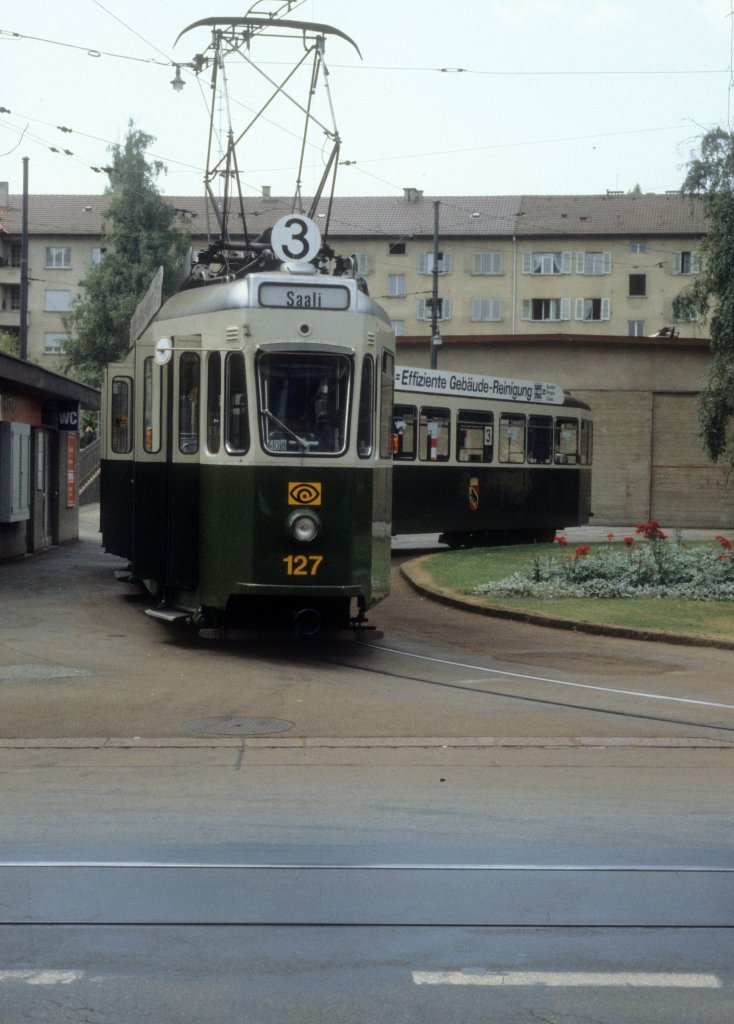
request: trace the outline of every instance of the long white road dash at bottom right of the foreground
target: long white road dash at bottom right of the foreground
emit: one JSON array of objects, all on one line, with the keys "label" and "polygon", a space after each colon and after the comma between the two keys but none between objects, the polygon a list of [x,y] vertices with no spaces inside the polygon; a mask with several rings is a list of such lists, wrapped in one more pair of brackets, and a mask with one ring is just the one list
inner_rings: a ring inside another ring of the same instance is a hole
[{"label": "long white road dash at bottom right of the foreground", "polygon": [[646,974],[624,971],[414,971],[416,985],[544,986],[547,988],[721,988],[715,974]]}]

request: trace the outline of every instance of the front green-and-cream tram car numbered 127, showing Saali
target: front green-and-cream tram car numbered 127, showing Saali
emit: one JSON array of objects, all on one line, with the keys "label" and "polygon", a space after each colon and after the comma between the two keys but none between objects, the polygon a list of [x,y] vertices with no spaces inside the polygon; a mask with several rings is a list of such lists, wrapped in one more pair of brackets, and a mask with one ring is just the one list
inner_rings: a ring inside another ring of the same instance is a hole
[{"label": "front green-and-cream tram car numbered 127, showing Saali", "polygon": [[355,275],[284,260],[169,299],[104,380],[102,543],[148,614],[363,625],[389,589],[393,377]]}]

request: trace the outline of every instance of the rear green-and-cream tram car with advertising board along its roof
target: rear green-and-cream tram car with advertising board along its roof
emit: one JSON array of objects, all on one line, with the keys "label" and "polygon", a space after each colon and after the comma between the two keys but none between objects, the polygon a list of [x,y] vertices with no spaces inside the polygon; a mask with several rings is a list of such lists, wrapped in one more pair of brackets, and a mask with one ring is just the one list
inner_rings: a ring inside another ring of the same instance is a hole
[{"label": "rear green-and-cream tram car with advertising board along its roof", "polygon": [[393,534],[552,541],[589,521],[589,406],[555,384],[397,367]]}]

